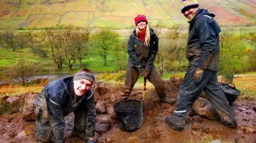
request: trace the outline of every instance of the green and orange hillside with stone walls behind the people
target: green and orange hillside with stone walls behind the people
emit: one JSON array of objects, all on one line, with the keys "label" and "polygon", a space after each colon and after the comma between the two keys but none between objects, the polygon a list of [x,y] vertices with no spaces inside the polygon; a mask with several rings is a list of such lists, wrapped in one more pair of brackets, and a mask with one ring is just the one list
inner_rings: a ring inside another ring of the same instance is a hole
[{"label": "green and orange hillside with stone walls behind the people", "polygon": [[[137,14],[150,25],[159,21],[170,27],[187,24],[180,12],[181,0],[0,0],[0,28],[134,27]],[[216,14],[221,25],[256,25],[255,0],[199,0],[200,8]]]}]

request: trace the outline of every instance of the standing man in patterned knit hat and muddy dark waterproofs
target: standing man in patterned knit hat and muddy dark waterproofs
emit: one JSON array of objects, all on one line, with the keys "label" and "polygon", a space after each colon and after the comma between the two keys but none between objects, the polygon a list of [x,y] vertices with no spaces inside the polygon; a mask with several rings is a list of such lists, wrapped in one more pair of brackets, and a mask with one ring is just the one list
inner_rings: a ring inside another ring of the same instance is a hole
[{"label": "standing man in patterned knit hat and muddy dark waterproofs", "polygon": [[182,131],[188,110],[204,90],[220,116],[220,122],[236,128],[237,122],[224,92],[217,81],[220,53],[218,33],[221,32],[214,14],[199,8],[196,0],[183,0],[181,12],[189,20],[186,57],[189,68],[180,86],[177,106],[173,116],[165,122],[176,131]]}]

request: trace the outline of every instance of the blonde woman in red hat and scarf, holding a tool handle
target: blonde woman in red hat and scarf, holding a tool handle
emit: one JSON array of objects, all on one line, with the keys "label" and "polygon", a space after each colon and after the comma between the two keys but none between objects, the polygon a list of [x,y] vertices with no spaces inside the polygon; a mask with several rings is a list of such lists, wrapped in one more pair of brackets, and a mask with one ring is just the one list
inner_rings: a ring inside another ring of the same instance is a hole
[{"label": "blonde woman in red hat and scarf, holding a tool handle", "polygon": [[155,86],[156,93],[162,101],[173,104],[175,99],[166,95],[161,75],[154,66],[155,57],[158,53],[158,36],[153,29],[148,27],[145,15],[138,15],[134,20],[136,28],[131,33],[127,44],[129,59],[123,96],[128,97],[130,95],[139,75],[141,75]]}]

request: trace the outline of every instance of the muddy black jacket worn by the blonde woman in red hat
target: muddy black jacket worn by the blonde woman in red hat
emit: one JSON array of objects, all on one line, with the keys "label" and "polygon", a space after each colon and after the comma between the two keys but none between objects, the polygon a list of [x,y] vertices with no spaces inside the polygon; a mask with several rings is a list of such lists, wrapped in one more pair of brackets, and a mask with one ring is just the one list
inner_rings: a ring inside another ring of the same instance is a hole
[{"label": "muddy black jacket worn by the blonde woman in red hat", "polygon": [[150,46],[147,47],[137,37],[136,30],[134,29],[129,37],[127,53],[129,55],[127,67],[136,67],[139,71],[144,68],[151,72],[156,54],[158,53],[158,36],[156,36],[154,30],[150,28]]}]

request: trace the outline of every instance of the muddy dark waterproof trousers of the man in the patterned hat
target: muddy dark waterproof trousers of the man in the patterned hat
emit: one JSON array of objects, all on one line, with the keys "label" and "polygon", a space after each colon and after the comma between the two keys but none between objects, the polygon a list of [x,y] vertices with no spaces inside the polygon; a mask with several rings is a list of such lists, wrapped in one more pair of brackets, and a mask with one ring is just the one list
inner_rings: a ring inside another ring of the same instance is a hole
[{"label": "muddy dark waterproof trousers of the man in the patterned hat", "polygon": [[200,83],[196,83],[193,75],[197,66],[189,66],[183,83],[180,86],[177,106],[174,111],[174,118],[185,120],[188,118],[188,110],[204,90],[209,101],[216,109],[220,122],[226,126],[236,127],[236,119],[229,106],[226,96],[217,81],[217,71],[204,70]]}]

